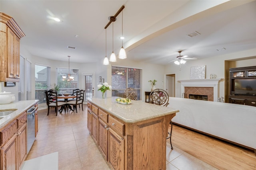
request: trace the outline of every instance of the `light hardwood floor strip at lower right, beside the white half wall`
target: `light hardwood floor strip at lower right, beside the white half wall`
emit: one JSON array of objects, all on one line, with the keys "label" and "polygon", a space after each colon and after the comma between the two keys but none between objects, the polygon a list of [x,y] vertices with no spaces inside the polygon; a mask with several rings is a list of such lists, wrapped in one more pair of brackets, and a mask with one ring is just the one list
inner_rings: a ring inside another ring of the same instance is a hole
[{"label": "light hardwood floor strip at lower right, beside the white half wall", "polygon": [[235,147],[176,125],[173,125],[172,129],[172,145],[220,170],[256,170],[256,155],[253,151]]}]

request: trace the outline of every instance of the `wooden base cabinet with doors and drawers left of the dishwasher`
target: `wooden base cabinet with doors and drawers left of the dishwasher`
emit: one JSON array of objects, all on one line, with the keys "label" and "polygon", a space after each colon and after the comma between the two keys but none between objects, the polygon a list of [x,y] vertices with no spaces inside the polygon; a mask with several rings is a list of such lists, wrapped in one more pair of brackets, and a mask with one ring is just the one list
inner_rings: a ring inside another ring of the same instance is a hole
[{"label": "wooden base cabinet with doors and drawers left of the dishwasher", "polygon": [[22,113],[15,121],[0,131],[1,170],[19,170],[25,160],[27,140],[27,116]]}]

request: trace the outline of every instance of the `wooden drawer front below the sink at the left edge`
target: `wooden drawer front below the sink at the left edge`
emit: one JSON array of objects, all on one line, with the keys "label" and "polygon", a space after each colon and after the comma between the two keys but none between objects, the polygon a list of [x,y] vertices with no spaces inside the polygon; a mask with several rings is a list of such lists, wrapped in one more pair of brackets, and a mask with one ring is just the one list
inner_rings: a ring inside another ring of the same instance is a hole
[{"label": "wooden drawer front below the sink at the left edge", "polygon": [[9,126],[0,132],[1,145],[17,133],[17,121],[12,122]]}]

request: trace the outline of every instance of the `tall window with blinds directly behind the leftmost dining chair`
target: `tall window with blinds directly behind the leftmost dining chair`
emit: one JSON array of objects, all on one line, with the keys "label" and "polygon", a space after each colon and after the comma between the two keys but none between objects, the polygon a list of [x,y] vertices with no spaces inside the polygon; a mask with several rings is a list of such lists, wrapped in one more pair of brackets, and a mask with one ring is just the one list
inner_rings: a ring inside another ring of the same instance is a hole
[{"label": "tall window with blinds directly behind the leftmost dining chair", "polygon": [[35,99],[46,103],[45,90],[50,89],[50,67],[35,65]]}]

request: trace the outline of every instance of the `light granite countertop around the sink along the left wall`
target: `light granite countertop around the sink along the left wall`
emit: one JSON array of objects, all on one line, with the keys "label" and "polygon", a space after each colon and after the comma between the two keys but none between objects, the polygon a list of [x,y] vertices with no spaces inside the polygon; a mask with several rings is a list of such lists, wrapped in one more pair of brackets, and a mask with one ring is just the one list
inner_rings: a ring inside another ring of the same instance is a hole
[{"label": "light granite countertop around the sink along the left wall", "polygon": [[10,115],[7,115],[0,119],[0,129],[10,123],[10,121],[13,121],[20,113],[23,113],[27,109],[29,109],[31,106],[36,104],[39,100],[23,100],[18,102],[12,102],[10,104],[0,104],[0,111],[9,111],[9,110],[15,110]]}]

